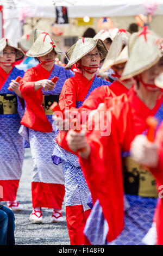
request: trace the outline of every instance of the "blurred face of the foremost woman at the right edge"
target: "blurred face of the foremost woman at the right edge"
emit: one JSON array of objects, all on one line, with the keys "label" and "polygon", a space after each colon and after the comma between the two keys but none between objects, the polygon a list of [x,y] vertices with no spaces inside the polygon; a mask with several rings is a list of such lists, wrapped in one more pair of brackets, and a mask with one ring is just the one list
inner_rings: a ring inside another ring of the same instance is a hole
[{"label": "blurred face of the foremost woman at the right edge", "polygon": [[[156,63],[152,68],[143,71],[140,75],[138,75],[138,78],[141,77],[143,83],[146,84],[154,84],[154,80],[157,76],[159,76],[163,72],[163,57],[160,58],[158,63]],[[153,88],[148,87],[147,88],[150,90],[153,90]],[[157,88],[155,88],[157,89]]]}]

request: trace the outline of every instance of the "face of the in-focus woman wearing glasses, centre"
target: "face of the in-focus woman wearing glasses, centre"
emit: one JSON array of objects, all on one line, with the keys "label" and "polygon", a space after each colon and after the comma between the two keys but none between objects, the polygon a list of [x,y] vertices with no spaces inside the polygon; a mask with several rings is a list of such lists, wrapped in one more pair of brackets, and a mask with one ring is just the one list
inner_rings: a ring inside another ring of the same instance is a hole
[{"label": "face of the in-focus woman wearing glasses, centre", "polygon": [[87,53],[82,59],[82,65],[83,66],[89,66],[93,68],[95,66],[95,69],[91,69],[91,72],[96,72],[97,67],[100,65],[100,55],[98,48],[95,47],[91,52]]}]

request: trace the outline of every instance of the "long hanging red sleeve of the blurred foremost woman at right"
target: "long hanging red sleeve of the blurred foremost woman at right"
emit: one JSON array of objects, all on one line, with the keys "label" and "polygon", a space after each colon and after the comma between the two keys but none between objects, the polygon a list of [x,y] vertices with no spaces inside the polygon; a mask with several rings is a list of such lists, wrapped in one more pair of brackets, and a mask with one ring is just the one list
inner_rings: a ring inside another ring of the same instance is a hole
[{"label": "long hanging red sleeve of the blurred foremost woman at right", "polygon": [[93,131],[87,142],[91,147],[89,160],[79,157],[93,203],[99,199],[109,225],[108,241],[114,240],[123,229],[123,176],[121,149],[117,137],[116,119],[111,119],[110,136]]}]

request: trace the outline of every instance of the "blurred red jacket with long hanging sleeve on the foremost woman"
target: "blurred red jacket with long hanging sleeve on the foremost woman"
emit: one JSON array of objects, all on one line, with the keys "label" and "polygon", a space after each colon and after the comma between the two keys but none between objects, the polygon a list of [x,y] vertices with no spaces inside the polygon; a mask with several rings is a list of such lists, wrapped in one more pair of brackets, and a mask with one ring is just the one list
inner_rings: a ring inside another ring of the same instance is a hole
[{"label": "blurred red jacket with long hanging sleeve on the foremost woman", "polygon": [[148,128],[146,118],[158,111],[162,101],[163,96],[151,110],[136,96],[134,89],[130,89],[128,96],[123,94],[112,99],[110,135],[101,136],[100,130],[87,134],[91,154],[88,160],[79,156],[79,163],[93,203],[99,199],[102,206],[109,225],[109,242],[116,239],[124,225],[121,152],[129,151],[134,137]]}]

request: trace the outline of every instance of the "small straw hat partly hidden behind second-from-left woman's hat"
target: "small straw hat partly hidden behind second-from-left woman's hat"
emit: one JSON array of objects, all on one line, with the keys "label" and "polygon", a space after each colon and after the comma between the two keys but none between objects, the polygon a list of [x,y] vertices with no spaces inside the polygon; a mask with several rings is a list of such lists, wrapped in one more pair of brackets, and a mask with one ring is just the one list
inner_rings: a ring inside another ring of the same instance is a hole
[{"label": "small straw hat partly hidden behind second-from-left woman's hat", "polygon": [[21,48],[23,48],[24,51],[29,51],[30,47],[32,47],[34,43],[34,30],[30,31],[29,34],[24,34],[18,40],[18,44],[20,44]]}]

